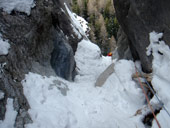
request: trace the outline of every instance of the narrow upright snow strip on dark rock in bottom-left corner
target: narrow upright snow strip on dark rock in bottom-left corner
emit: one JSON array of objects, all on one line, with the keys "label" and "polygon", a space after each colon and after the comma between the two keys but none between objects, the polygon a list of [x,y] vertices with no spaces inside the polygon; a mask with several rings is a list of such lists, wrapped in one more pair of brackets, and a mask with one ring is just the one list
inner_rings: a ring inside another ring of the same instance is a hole
[{"label": "narrow upright snow strip on dark rock in bottom-left corner", "polygon": [[0,120],[0,128],[14,128],[17,112],[13,108],[13,99],[7,99],[5,119]]}]

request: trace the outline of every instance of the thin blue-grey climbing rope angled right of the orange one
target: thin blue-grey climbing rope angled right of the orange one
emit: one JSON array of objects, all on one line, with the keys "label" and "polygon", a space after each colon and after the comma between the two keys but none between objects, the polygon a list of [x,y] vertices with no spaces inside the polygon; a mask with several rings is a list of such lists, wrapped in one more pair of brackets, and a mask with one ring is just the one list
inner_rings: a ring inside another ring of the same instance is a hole
[{"label": "thin blue-grey climbing rope angled right of the orange one", "polygon": [[[142,75],[142,73],[139,71],[138,68],[136,68],[137,71]],[[151,85],[148,83],[148,81],[146,80],[146,78],[142,75],[142,77],[145,79],[145,83],[147,84],[147,86],[149,87],[150,91],[152,92],[153,95],[155,95],[156,99],[158,100],[158,102],[160,103],[161,107],[166,111],[166,113],[168,114],[168,116],[170,117],[170,113],[168,112],[168,110],[166,109],[166,107],[164,106],[164,103],[159,99],[158,95],[156,94],[156,92],[153,90],[153,88],[151,87]]]}]

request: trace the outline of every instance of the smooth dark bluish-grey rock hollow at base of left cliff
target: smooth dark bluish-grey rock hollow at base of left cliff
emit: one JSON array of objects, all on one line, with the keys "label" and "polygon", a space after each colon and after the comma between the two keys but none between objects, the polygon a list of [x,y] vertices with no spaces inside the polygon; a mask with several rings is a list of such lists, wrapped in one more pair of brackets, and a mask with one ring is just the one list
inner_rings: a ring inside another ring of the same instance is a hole
[{"label": "smooth dark bluish-grey rock hollow at base of left cliff", "polygon": [[[58,76],[73,80],[75,76],[74,53],[63,33],[58,33],[54,40],[54,50],[51,54],[51,65]],[[58,68],[60,67],[60,68]]]}]

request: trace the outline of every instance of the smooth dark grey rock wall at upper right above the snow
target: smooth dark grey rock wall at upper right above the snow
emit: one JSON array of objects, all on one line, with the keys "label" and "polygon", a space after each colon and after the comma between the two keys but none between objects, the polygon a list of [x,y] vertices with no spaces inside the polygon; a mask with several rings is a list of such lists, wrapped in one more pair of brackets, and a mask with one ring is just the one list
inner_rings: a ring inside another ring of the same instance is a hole
[{"label": "smooth dark grey rock wall at upper right above the snow", "polygon": [[146,55],[149,33],[163,32],[163,40],[170,45],[169,1],[114,0],[114,6],[118,21],[127,35],[134,59],[140,59],[143,70],[151,72],[152,57]]}]

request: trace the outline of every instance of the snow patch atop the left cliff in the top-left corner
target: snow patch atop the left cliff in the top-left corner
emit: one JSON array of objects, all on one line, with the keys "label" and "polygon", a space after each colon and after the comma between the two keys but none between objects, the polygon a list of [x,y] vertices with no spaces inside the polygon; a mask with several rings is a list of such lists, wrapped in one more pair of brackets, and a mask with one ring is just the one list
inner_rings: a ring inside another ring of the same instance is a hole
[{"label": "snow patch atop the left cliff in the top-left corner", "polygon": [[0,9],[9,14],[15,10],[30,15],[31,8],[34,6],[34,0],[0,0]]}]

